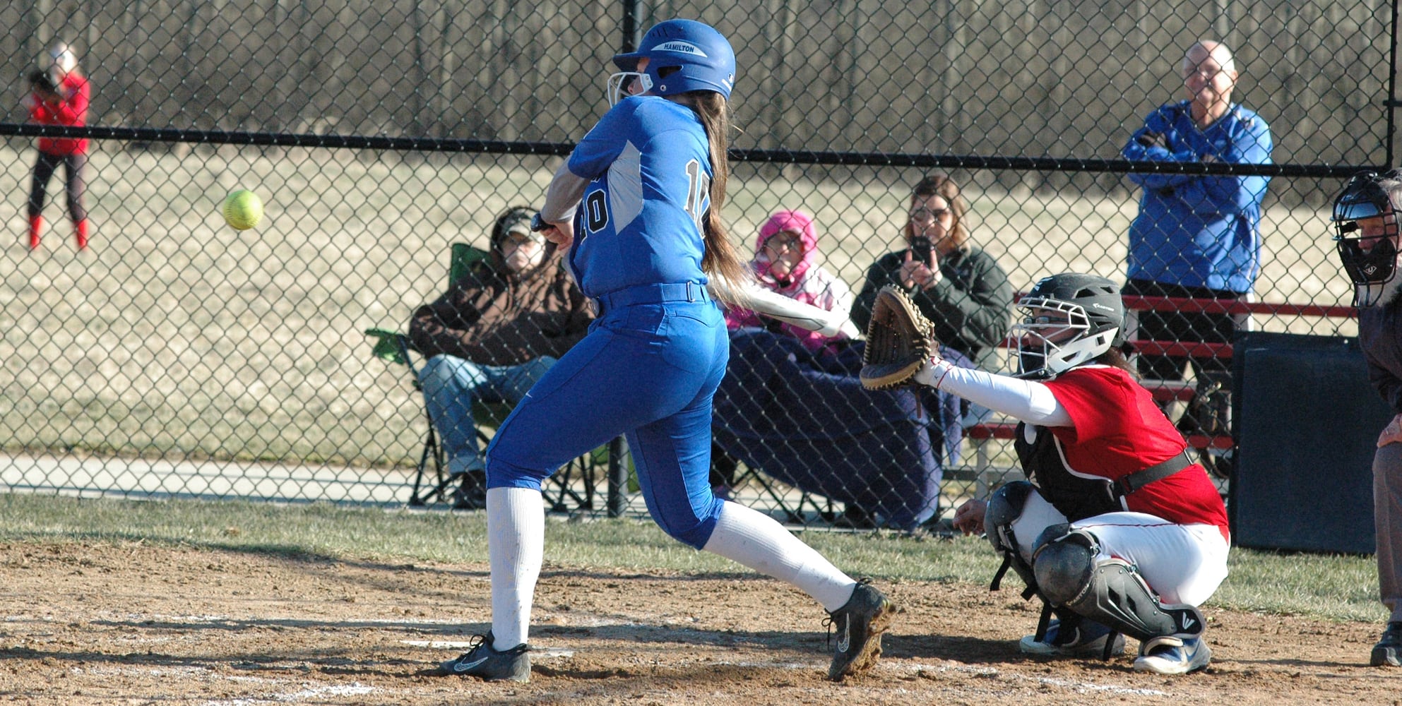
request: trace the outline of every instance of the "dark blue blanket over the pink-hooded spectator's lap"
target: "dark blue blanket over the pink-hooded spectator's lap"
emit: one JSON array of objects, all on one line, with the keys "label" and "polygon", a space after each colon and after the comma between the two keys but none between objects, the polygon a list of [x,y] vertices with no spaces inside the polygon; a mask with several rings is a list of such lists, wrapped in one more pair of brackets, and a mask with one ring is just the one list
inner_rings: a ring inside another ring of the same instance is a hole
[{"label": "dark blue blanket over the pink-hooded spectator's lap", "polygon": [[861,343],[815,356],[792,338],[742,329],[715,395],[715,441],[801,490],[916,528],[935,517],[944,464],[958,461],[960,401],[930,388],[872,392],[859,370]]}]

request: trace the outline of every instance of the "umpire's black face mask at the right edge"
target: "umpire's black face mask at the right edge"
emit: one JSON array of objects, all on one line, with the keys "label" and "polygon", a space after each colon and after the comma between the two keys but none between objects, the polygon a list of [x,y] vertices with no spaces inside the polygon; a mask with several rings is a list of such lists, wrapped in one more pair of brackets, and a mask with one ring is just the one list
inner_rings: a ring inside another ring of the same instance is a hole
[{"label": "umpire's black face mask at the right edge", "polygon": [[1329,220],[1343,272],[1353,282],[1353,305],[1373,307],[1398,289],[1398,223],[1394,192],[1402,191],[1402,169],[1356,174],[1333,200]]}]

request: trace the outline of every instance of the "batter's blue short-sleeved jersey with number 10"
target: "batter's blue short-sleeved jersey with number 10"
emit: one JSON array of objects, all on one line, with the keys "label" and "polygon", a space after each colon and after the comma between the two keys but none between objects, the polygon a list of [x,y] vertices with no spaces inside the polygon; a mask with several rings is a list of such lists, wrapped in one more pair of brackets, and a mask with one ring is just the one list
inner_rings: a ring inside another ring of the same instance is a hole
[{"label": "batter's blue short-sleeved jersey with number 10", "polygon": [[711,151],[690,108],[656,95],[625,98],[579,141],[566,167],[589,179],[569,252],[585,296],[705,284],[701,223],[711,207]]}]

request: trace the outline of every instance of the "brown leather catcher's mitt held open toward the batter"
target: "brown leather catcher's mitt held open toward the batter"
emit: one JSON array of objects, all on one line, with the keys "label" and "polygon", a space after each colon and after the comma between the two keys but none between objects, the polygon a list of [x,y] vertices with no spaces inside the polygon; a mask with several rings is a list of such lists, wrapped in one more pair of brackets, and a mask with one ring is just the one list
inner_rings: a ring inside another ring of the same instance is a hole
[{"label": "brown leather catcher's mitt held open toward the batter", "polygon": [[876,293],[862,353],[862,387],[885,389],[906,384],[935,347],[935,326],[904,291],[885,286]]}]

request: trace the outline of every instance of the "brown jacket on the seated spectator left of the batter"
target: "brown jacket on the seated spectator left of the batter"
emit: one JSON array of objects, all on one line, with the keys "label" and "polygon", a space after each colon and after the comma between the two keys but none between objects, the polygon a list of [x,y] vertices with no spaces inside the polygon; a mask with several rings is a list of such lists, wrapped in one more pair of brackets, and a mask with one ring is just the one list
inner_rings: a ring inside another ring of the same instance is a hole
[{"label": "brown jacket on the seated spectator left of the batter", "polygon": [[479,366],[565,354],[585,336],[593,312],[559,254],[551,251],[538,268],[522,273],[510,273],[495,252],[474,265],[447,293],[414,312],[414,349]]}]

